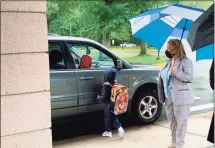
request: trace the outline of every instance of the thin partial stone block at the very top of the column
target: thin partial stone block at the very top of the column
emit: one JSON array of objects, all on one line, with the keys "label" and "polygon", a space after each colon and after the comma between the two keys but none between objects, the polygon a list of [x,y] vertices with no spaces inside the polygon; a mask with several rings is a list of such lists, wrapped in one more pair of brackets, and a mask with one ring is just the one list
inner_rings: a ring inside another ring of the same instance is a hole
[{"label": "thin partial stone block at the very top of the column", "polygon": [[1,1],[1,12],[45,12],[46,0],[40,1]]}]

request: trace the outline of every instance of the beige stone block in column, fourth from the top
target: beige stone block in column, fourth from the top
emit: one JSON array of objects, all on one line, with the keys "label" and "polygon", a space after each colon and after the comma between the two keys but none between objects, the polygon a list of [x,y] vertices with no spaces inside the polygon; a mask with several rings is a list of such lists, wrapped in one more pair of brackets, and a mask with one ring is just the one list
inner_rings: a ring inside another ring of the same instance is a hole
[{"label": "beige stone block in column, fourth from the top", "polygon": [[1,96],[1,136],[50,127],[50,92]]}]

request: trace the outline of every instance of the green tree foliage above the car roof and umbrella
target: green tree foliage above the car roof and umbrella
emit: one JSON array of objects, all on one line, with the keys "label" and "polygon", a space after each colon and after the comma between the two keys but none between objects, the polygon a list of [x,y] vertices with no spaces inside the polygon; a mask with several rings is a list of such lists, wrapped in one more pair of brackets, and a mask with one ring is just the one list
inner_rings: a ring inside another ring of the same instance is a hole
[{"label": "green tree foliage above the car roof and umbrella", "polygon": [[[131,38],[129,18],[152,8],[172,3],[201,7],[200,1],[182,0],[47,0],[47,22],[50,33],[82,36],[110,45],[110,39]],[[207,3],[207,4],[206,4]],[[213,1],[204,3],[208,8]]]}]

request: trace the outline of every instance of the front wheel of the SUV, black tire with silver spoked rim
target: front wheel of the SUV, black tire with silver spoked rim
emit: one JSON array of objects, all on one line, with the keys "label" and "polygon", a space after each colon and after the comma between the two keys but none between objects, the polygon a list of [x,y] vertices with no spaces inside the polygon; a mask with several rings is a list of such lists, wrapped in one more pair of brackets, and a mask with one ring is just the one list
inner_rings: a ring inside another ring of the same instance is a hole
[{"label": "front wheel of the SUV, black tire with silver spoked rim", "polygon": [[[162,112],[162,104],[158,100],[156,90],[147,90],[135,96],[132,106],[133,121],[139,125],[152,124],[158,120]],[[151,100],[151,103],[149,102]]]}]

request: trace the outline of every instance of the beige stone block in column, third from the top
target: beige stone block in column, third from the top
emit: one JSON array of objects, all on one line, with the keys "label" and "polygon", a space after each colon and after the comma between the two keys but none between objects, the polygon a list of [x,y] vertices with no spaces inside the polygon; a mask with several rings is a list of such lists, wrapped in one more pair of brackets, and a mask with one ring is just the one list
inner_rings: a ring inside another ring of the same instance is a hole
[{"label": "beige stone block in column, third from the top", "polygon": [[1,95],[50,90],[47,53],[1,55]]}]

